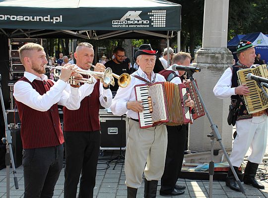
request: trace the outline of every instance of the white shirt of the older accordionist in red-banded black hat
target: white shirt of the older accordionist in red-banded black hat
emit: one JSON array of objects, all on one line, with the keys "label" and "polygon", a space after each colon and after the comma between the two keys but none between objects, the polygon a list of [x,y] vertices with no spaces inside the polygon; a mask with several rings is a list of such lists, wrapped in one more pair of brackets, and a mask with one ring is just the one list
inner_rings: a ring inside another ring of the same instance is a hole
[{"label": "white shirt of the older accordionist in red-banded black hat", "polygon": [[[150,82],[152,82],[153,79],[155,79],[155,82],[166,81],[164,76],[160,74],[155,74],[154,72],[151,72],[151,79],[149,80],[147,75],[140,69],[140,67],[138,68],[137,71],[133,73],[133,75],[140,76],[141,78],[144,78],[145,80],[150,81]],[[128,101],[136,100],[134,87],[135,85],[141,85],[141,84],[146,84],[146,83],[142,80],[139,80],[131,76],[131,83],[128,87],[126,88],[119,87],[117,94],[115,98],[113,99],[112,105],[111,105],[111,111],[113,112],[114,115],[121,116],[127,113],[127,117],[138,119],[138,113],[133,110],[128,110],[126,108],[126,104]]]}]

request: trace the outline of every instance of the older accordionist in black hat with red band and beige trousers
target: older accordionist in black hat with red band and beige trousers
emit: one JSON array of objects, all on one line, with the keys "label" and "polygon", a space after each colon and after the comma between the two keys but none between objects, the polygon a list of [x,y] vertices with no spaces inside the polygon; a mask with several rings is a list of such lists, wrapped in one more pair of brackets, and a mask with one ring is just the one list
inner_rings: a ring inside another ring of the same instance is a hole
[{"label": "older accordionist in black hat with red band and beige trousers", "polygon": [[[135,52],[139,68],[131,76],[126,88],[119,88],[113,99],[111,110],[115,115],[127,113],[130,117],[125,173],[128,198],[135,198],[144,172],[144,198],[155,198],[157,183],[164,172],[167,129],[161,124],[156,127],[139,128],[138,112],[143,111],[142,101],[135,99],[135,85],[166,81],[153,72],[156,51],[143,44]],[[146,164],[146,166],[145,166]],[[144,169],[145,167],[145,169]]]}]

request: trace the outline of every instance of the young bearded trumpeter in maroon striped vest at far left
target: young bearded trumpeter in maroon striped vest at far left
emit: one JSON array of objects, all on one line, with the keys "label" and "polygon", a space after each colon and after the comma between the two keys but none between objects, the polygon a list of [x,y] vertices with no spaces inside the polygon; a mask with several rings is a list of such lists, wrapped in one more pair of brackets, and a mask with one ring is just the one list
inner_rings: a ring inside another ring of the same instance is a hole
[{"label": "young bearded trumpeter in maroon striped vest at far left", "polygon": [[79,108],[77,88],[65,91],[74,65],[62,69],[60,80],[49,80],[42,46],[28,43],[19,49],[24,77],[14,85],[13,96],[21,121],[24,198],[52,198],[63,166],[64,137],[58,104]]}]

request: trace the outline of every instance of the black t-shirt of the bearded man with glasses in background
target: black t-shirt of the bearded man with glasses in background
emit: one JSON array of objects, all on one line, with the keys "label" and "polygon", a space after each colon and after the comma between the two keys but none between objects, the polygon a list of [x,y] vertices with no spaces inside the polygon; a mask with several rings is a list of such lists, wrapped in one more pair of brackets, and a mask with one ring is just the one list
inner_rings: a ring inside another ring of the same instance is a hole
[{"label": "black t-shirt of the bearded man with glasses in background", "polygon": [[[106,62],[105,67],[110,67],[113,71],[113,73],[117,74],[117,75],[121,75],[123,73],[128,73],[130,74],[130,70],[129,70],[129,64],[125,61],[123,61],[120,64],[115,63],[113,60],[109,60],[108,62]],[[115,78],[115,86],[110,86],[110,89],[112,92],[116,92],[118,90],[119,86],[117,83],[117,79]]]}]

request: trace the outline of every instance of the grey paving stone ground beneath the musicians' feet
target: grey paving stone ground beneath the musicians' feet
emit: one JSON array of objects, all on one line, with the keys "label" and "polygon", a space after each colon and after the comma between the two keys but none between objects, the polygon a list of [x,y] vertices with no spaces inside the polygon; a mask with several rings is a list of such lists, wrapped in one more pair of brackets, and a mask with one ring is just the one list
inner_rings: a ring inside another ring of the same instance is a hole
[{"label": "grey paving stone ground beneath the musicians' feet", "polygon": [[[115,166],[116,160],[112,158],[119,155],[118,150],[104,151],[104,156],[99,157],[98,171],[96,177],[96,186],[94,189],[94,198],[127,198],[127,187],[125,185],[124,160],[119,160]],[[268,147],[266,149],[265,160],[268,161]],[[109,164],[108,162],[111,161]],[[266,163],[266,161],[264,161]],[[115,166],[115,167],[114,167]],[[266,169],[267,166],[261,166]],[[23,168],[16,168],[19,189],[14,187],[13,175],[10,173],[10,198],[23,198]],[[266,173],[266,170],[264,170]],[[223,181],[214,181],[212,185],[213,198],[268,198],[268,180],[261,181],[265,185],[265,190],[258,190],[252,186],[245,185],[245,195],[230,190]],[[173,198],[208,198],[209,181],[179,179],[177,184],[185,185],[187,188],[184,195],[173,196]],[[79,185],[78,185],[79,186]],[[158,182],[157,198],[159,195],[160,181]],[[79,190],[79,188],[78,188]],[[143,198],[144,183],[137,191],[137,198]],[[0,198],[6,198],[6,169],[0,170]],[[61,171],[59,180],[55,186],[53,198],[64,198],[64,168]],[[162,197],[164,198],[164,197]],[[170,197],[172,198],[172,197]]]}]

